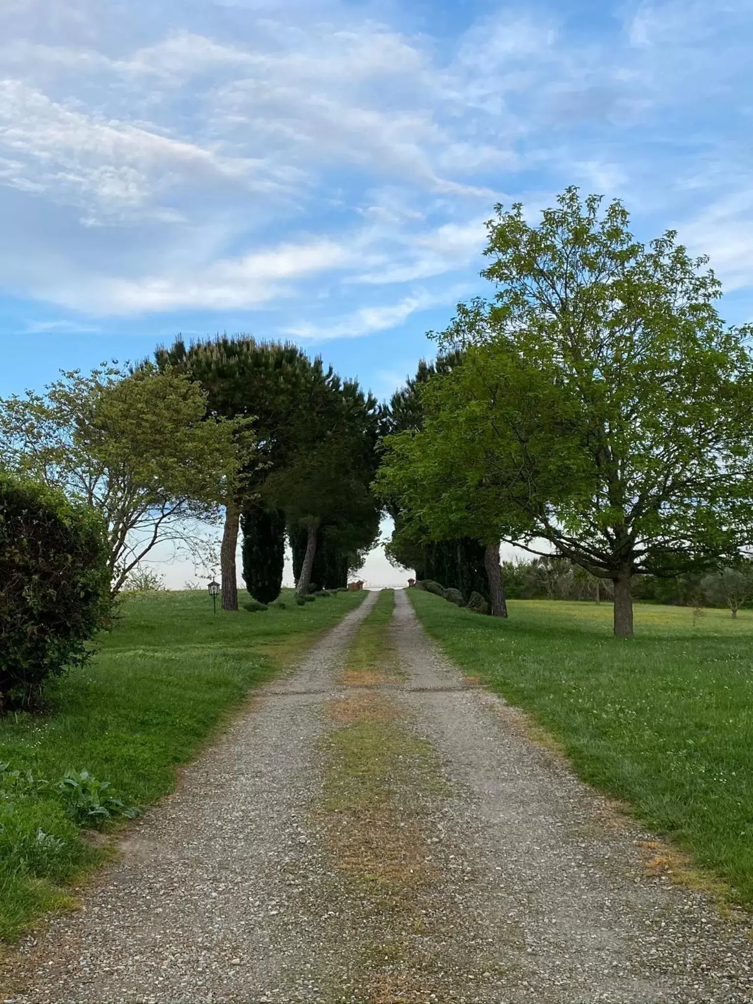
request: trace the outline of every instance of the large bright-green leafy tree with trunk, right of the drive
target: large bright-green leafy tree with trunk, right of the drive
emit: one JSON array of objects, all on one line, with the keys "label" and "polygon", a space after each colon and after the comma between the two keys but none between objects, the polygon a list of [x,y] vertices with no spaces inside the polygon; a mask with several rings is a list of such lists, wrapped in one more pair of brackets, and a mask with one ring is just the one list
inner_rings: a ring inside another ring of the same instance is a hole
[{"label": "large bright-green leafy tree with trunk, right of the drive", "polygon": [[462,359],[428,381],[423,429],[388,439],[380,474],[435,539],[544,538],[613,580],[623,635],[634,575],[714,564],[753,526],[749,331],[723,325],[705,259],[629,222],[575,189],[538,226],[498,207],[496,295],[439,337]]}]

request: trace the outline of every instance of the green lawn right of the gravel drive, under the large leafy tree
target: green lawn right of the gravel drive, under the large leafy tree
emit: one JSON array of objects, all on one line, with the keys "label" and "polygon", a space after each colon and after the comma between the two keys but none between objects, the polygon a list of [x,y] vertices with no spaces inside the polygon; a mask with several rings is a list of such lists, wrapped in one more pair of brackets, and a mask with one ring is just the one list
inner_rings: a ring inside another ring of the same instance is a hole
[{"label": "green lawn right of the gravel drive, under the large leafy tree", "polygon": [[586,781],[631,803],[753,906],[753,612],[512,600],[507,621],[410,590],[469,676],[530,712]]}]

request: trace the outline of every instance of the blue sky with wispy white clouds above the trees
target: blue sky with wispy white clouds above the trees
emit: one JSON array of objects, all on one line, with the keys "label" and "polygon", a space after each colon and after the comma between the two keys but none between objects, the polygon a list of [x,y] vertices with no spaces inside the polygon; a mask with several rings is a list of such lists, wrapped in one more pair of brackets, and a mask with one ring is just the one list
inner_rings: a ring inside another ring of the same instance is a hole
[{"label": "blue sky with wispy white clouds above the trees", "polygon": [[179,331],[387,396],[566,185],[753,315],[751,0],[3,0],[0,395]]}]

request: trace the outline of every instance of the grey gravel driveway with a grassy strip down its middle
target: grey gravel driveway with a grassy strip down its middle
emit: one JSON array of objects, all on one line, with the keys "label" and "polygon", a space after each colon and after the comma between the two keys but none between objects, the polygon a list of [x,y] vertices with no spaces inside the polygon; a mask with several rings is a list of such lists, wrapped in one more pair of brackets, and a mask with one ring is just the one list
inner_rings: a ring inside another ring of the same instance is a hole
[{"label": "grey gravel driveway with a grassy strip down its middle", "polygon": [[[464,681],[405,593],[393,625],[405,683],[338,682],[374,598],[258,692],[180,790],[130,830],[82,911],[21,947],[12,999],[753,1002],[743,924],[647,873],[639,843],[651,834],[527,739],[513,709]],[[383,717],[393,709],[395,728],[430,751],[407,745],[394,779],[421,881],[393,907],[332,859],[316,808],[337,728],[326,709],[358,694],[366,709],[381,702]],[[395,962],[374,969],[364,946],[391,943]]]}]

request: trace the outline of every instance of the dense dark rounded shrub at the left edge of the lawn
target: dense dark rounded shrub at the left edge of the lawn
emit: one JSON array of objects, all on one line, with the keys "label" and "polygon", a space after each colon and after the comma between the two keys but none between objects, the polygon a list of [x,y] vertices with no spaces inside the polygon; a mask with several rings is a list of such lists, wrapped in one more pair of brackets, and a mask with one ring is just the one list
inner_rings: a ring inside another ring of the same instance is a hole
[{"label": "dense dark rounded shrub at the left edge of the lawn", "polygon": [[0,710],[86,661],[110,607],[107,556],[93,509],[0,474]]}]

